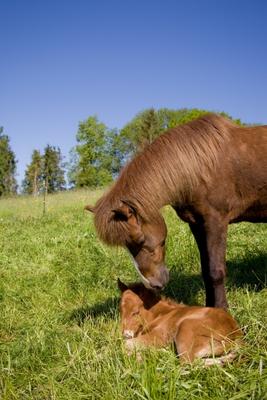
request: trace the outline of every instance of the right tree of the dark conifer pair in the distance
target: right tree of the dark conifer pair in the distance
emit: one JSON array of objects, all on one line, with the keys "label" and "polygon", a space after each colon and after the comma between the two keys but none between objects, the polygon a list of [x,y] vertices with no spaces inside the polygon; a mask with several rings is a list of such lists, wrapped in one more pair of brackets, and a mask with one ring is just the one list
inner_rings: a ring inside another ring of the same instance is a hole
[{"label": "right tree of the dark conifer pair in the distance", "polygon": [[42,157],[42,177],[46,193],[64,190],[66,187],[64,175],[64,164],[60,148],[48,144]]}]

